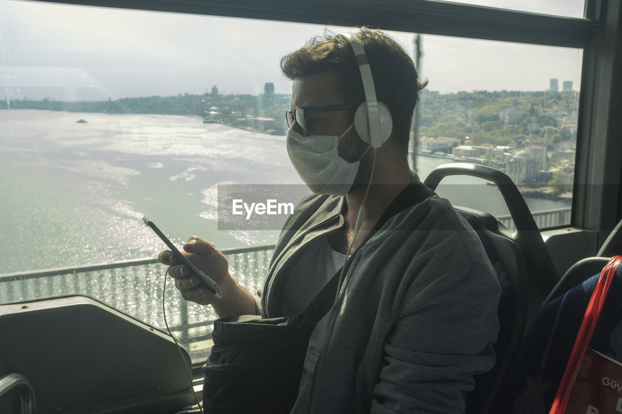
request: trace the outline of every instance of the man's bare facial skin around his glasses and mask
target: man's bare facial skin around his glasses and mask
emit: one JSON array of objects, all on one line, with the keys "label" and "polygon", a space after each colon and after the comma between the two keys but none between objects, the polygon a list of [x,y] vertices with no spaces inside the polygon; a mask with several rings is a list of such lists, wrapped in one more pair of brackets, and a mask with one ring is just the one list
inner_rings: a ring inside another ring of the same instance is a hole
[{"label": "man's bare facial skin around his glasses and mask", "polygon": [[[305,78],[294,80],[292,85],[292,101],[290,111],[295,107],[299,108],[319,108],[322,106],[350,104],[356,102],[344,102],[338,96],[337,75],[331,72],[310,75]],[[348,129],[352,119],[348,116],[348,111],[315,112],[305,113],[307,124],[307,135],[340,136]],[[292,126],[294,131],[300,132],[299,126]],[[348,162],[354,162],[367,149],[365,144],[357,135],[354,127],[339,140],[339,155]]]}]

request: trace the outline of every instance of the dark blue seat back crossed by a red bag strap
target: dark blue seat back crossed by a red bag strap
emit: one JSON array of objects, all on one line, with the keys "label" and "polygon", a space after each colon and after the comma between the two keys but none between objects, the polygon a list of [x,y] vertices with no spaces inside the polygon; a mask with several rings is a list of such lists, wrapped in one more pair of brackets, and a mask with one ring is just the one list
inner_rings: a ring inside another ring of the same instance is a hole
[{"label": "dark blue seat back crossed by a red bag strap", "polygon": [[[548,413],[600,272],[545,305],[527,329],[494,413]],[[589,347],[622,362],[622,265]]]}]

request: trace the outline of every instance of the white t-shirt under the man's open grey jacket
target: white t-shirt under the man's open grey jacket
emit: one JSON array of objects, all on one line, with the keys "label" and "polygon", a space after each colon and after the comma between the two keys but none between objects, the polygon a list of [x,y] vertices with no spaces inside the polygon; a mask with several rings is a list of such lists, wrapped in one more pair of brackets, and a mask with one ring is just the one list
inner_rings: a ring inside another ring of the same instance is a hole
[{"label": "white t-shirt under the man's open grey jacket", "polygon": [[[335,252],[330,244],[328,237],[320,237],[317,241],[305,247],[296,262],[287,270],[289,277],[284,284],[284,301],[281,308],[284,315],[295,315],[309,306],[309,303],[320,293],[320,290],[330,281],[330,279],[341,269],[346,259],[345,254]],[[320,320],[311,333],[307,356],[302,369],[302,379],[300,380],[300,395],[303,390],[308,390],[313,380],[313,373],[307,378],[309,370],[315,366],[318,352],[316,352],[322,336],[324,327],[328,322],[330,311]],[[306,380],[306,382],[305,382]],[[303,394],[305,395],[306,392]],[[307,398],[300,397],[292,412],[306,410]]]}]

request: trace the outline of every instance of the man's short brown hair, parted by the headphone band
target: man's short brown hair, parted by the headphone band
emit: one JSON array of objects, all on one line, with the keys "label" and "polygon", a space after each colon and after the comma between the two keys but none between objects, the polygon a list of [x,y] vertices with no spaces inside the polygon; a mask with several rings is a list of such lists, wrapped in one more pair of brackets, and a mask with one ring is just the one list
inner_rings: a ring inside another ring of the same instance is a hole
[{"label": "man's short brown hair, parted by the headphone band", "polygon": [[[419,91],[427,81],[417,81],[417,70],[411,57],[395,40],[380,30],[361,27],[355,33],[369,61],[374,78],[376,98],[389,106],[393,119],[392,137],[397,149],[406,154],[411,131],[412,113]],[[338,96],[345,103],[365,101],[361,71],[350,42],[340,35],[324,34],[281,59],[281,70],[290,80],[318,73],[337,75]]]}]

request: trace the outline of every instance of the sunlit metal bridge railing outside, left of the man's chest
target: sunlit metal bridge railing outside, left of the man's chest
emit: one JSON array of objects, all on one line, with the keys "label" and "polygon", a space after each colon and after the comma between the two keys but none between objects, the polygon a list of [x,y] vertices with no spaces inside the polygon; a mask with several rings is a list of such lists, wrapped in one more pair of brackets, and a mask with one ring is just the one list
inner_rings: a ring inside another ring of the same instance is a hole
[{"label": "sunlit metal bridge railing outside, left of the man's chest", "polygon": [[[250,293],[261,287],[274,245],[223,249],[230,272]],[[162,288],[166,267],[157,259],[124,260],[106,264],[33,270],[0,275],[0,303],[76,293],[93,297],[128,315],[164,328]],[[183,300],[169,277],[164,296],[171,331],[193,361],[205,359],[211,347],[211,306]]]}]

